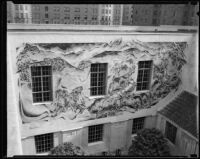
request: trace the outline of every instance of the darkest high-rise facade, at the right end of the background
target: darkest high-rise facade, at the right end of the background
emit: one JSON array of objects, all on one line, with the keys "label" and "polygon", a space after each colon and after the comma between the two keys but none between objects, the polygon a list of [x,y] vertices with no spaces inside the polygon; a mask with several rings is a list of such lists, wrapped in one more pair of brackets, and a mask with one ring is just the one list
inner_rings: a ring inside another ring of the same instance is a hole
[{"label": "darkest high-rise facade, at the right end of the background", "polygon": [[124,5],[123,25],[199,25],[199,3]]}]

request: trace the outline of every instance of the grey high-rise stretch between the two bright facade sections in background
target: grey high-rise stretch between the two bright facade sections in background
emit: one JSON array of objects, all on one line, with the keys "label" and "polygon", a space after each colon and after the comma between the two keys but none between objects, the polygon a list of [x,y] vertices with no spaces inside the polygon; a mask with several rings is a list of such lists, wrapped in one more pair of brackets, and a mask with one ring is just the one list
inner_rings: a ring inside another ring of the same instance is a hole
[{"label": "grey high-rise stretch between the two bright facade sections in background", "polygon": [[32,5],[33,23],[98,24],[98,5]]}]

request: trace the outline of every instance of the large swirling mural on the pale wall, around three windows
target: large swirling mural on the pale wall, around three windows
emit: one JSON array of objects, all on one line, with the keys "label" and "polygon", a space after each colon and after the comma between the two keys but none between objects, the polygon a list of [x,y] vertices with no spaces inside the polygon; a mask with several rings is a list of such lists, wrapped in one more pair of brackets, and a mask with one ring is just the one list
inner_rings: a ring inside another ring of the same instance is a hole
[{"label": "large swirling mural on the pale wall, around three windows", "polygon": [[[140,42],[28,44],[17,49],[19,106],[24,123],[90,120],[154,106],[181,84],[186,43]],[[137,62],[153,61],[150,90],[136,92]],[[91,98],[90,65],[108,63],[107,94]],[[53,101],[33,104],[30,66],[51,65]]]}]

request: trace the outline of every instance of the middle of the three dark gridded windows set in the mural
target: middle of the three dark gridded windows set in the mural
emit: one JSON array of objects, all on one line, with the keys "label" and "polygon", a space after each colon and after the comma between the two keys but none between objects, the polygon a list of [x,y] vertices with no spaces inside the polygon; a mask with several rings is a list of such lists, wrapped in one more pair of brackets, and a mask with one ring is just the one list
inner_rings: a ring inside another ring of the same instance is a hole
[{"label": "middle of the three dark gridded windows set in the mural", "polygon": [[107,74],[106,63],[91,64],[91,83],[90,83],[91,96],[106,94],[106,74]]}]

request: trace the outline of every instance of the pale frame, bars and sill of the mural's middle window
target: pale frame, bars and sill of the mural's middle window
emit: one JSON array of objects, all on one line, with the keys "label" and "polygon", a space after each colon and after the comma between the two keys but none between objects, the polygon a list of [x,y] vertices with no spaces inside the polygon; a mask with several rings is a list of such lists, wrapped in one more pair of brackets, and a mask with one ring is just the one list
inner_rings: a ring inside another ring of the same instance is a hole
[{"label": "pale frame, bars and sill of the mural's middle window", "polygon": [[[93,64],[97,64],[98,65],[97,72],[91,72]],[[99,64],[104,64],[105,71],[103,71],[103,72],[99,71]],[[96,83],[98,83],[98,81],[99,81],[99,79],[98,79],[99,73],[104,73],[105,77],[103,78],[103,81],[102,81],[102,83],[104,83],[104,86],[99,86],[98,84],[97,84],[97,86],[92,86],[92,76],[91,76],[92,73],[96,73],[97,74],[97,82]],[[90,65],[90,97],[92,97],[92,98],[102,97],[102,96],[105,96],[107,94],[107,73],[108,73],[108,63],[92,63]],[[97,90],[96,95],[93,95],[91,89],[92,88],[98,88],[98,87],[102,87],[102,89],[104,89],[104,92],[102,94],[99,94],[99,90]]]}]

